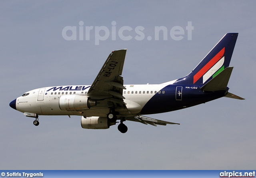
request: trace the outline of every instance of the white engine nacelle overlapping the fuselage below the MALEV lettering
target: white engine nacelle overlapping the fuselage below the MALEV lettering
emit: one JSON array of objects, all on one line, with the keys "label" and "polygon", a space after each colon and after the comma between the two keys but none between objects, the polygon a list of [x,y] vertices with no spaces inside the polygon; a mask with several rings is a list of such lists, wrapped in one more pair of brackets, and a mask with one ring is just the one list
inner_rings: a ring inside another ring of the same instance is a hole
[{"label": "white engine nacelle overlapping the fuselage below the MALEV lettering", "polygon": [[83,111],[96,105],[96,100],[82,95],[63,95],[59,99],[59,107],[62,111]]}]

